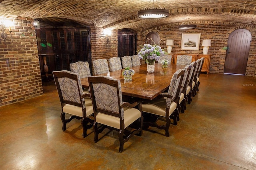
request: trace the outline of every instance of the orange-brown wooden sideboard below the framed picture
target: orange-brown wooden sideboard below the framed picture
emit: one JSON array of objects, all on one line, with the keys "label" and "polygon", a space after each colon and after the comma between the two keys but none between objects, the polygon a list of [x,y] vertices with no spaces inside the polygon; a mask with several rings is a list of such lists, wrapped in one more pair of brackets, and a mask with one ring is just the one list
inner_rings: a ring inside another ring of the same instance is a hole
[{"label": "orange-brown wooden sideboard below the framed picture", "polygon": [[200,58],[204,57],[204,64],[202,66],[202,71],[201,72],[207,72],[207,74],[209,74],[211,55],[209,55],[209,54],[173,54],[172,56],[174,58],[172,60],[172,64],[176,64],[177,55],[192,55],[192,62],[196,61],[197,59],[200,59]]}]

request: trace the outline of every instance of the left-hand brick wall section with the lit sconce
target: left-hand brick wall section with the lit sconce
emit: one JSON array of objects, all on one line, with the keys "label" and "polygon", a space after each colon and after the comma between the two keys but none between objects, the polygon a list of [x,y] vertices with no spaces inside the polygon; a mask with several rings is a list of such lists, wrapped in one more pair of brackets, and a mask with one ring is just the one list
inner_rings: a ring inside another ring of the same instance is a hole
[{"label": "left-hand brick wall section with the lit sconce", "polygon": [[[12,41],[0,45],[0,105],[42,95],[36,32],[31,18],[13,19]],[[5,28],[8,38],[10,33]]]}]

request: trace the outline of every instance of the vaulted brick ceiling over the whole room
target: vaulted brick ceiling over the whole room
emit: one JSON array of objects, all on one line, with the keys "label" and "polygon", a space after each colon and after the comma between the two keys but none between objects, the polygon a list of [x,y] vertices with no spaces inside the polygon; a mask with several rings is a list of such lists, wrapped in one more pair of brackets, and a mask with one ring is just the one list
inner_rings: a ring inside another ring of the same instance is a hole
[{"label": "vaulted brick ceiling over the whole room", "polygon": [[[204,21],[256,25],[256,0],[157,0],[170,16],[162,20],[140,20],[138,10],[152,7],[153,0],[0,0],[2,18],[42,18],[52,23],[76,22],[110,29],[137,31],[166,24]],[[158,7],[155,0],[155,7]],[[67,19],[67,20],[66,20]]]}]

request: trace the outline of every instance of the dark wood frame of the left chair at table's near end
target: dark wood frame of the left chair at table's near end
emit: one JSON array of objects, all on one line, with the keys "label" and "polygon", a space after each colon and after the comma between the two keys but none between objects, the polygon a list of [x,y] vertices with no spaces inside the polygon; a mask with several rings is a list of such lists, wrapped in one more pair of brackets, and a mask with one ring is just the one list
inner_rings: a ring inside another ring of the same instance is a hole
[{"label": "dark wood frame of the left chair at table's near end", "polygon": [[[86,117],[86,108],[83,109],[83,107],[82,107],[82,99],[85,98],[85,97],[90,97],[90,94],[88,94],[88,93],[83,94],[82,91],[80,91],[79,84],[78,84],[78,75],[76,75],[76,74],[70,74],[70,73],[67,73],[65,71],[62,71],[62,72],[54,72],[53,71],[53,76],[54,76],[54,81],[55,81],[55,84],[56,84],[56,87],[57,87],[58,95],[59,95],[59,98],[60,98],[60,104],[61,104],[61,107],[62,107],[62,113],[60,115],[60,118],[62,120],[62,130],[63,131],[66,130],[66,124],[69,123],[70,121],[72,121],[72,119],[81,120],[81,124],[82,124],[82,128],[83,128],[83,137],[85,138],[87,136],[87,130],[89,128],[92,128],[94,120]],[[67,100],[63,99],[62,92],[60,90],[60,84],[58,82],[58,78],[60,78],[60,77],[67,77],[67,78],[73,79],[77,82],[77,88],[78,88],[79,96],[80,96],[80,103],[67,101]],[[83,112],[83,117],[79,117],[79,116],[76,116],[76,115],[71,115],[68,119],[66,119],[65,118],[66,113],[63,112],[63,107],[64,107],[65,104],[81,107],[82,112]]]}]

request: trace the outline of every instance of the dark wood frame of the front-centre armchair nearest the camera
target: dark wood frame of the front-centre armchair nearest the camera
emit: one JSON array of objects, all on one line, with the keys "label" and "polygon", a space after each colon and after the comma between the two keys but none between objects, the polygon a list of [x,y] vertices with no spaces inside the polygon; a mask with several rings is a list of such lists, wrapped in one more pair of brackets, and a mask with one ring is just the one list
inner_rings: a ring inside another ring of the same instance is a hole
[{"label": "dark wood frame of the front-centre armchair nearest the camera", "polygon": [[[95,143],[98,142],[98,134],[101,133],[105,128],[108,128],[110,130],[116,130],[119,132],[118,133],[118,138],[119,138],[119,142],[120,142],[119,152],[122,152],[124,150],[124,143],[127,142],[132,136],[134,136],[135,134],[137,134],[138,136],[142,135],[142,125],[143,125],[143,116],[142,116],[142,107],[141,107],[142,101],[135,101],[134,103],[123,102],[122,105],[119,105],[119,113],[115,113],[115,112],[108,111],[105,109],[100,109],[96,105],[95,96],[94,96],[94,88],[93,88],[92,84],[93,83],[105,83],[105,84],[111,85],[113,87],[116,87],[118,103],[120,103],[120,95],[122,95],[122,94],[119,94],[119,91],[118,91],[118,81],[105,79],[104,76],[89,76],[88,83],[89,83],[90,92],[91,92],[91,96],[92,96],[94,119],[99,112],[120,118],[120,129],[108,127],[106,125],[102,125],[102,126],[98,127],[98,123],[95,120],[94,124],[93,124],[93,129],[94,129],[94,134],[95,134],[94,142]],[[137,106],[138,109],[140,110],[141,117],[140,117],[140,119],[138,119],[139,123],[136,124],[136,125],[138,125],[138,128],[136,128],[135,130],[129,131],[124,128],[124,119],[122,120],[122,117],[121,117],[121,109],[125,106],[128,106],[128,107],[136,107]]]}]

